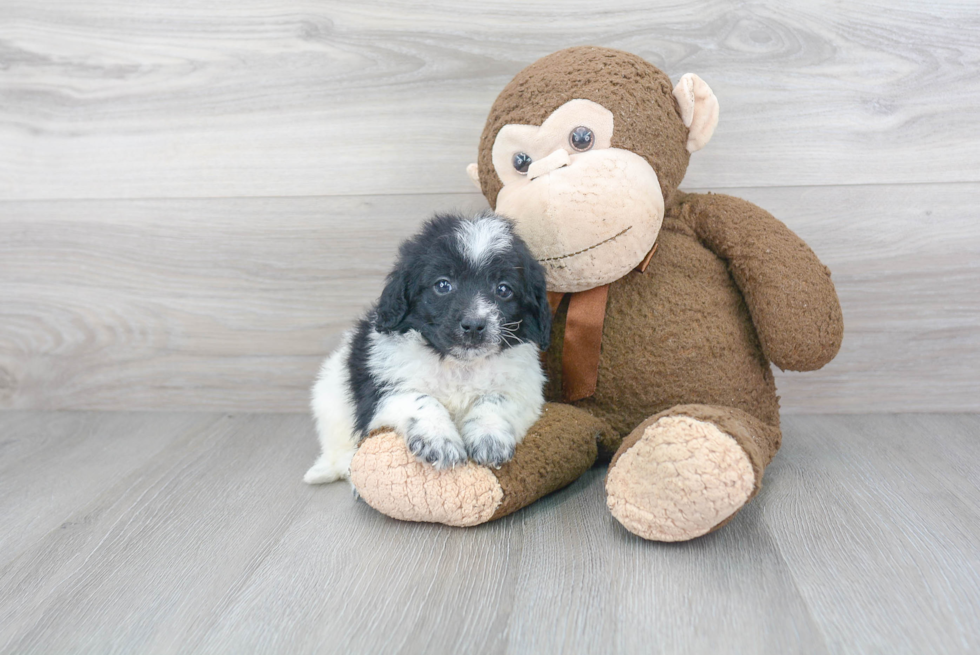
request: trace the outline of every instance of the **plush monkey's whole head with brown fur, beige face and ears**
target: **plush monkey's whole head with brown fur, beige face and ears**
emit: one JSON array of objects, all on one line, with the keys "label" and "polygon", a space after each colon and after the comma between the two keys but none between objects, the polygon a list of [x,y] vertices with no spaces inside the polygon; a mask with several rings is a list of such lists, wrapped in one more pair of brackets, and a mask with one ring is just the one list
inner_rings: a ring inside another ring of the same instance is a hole
[{"label": "plush monkey's whole head with brown fur, beige face and ears", "polygon": [[636,55],[569,48],[504,88],[467,172],[515,221],[548,288],[583,291],[643,260],[717,122],[718,101],[696,75],[674,86]]}]

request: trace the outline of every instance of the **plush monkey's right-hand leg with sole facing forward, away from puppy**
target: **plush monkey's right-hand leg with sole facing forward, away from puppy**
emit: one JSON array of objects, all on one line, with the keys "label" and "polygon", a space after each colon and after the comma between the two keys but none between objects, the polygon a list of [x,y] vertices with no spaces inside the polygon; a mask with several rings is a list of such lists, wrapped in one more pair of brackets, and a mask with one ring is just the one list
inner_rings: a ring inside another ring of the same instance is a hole
[{"label": "plush monkey's right-hand leg with sole facing forward, away from puppy", "polygon": [[781,438],[778,426],[738,409],[672,407],[623,440],[606,475],[609,510],[655,541],[717,530],[759,492]]}]

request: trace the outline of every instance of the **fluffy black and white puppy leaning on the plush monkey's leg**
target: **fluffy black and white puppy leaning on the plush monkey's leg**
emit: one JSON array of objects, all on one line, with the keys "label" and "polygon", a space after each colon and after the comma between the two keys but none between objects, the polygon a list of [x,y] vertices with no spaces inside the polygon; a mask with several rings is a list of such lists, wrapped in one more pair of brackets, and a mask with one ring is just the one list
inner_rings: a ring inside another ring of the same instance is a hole
[{"label": "fluffy black and white puppy leaning on the plush monkey's leg", "polygon": [[550,332],[544,269],[507,219],[429,220],[323,363],[312,399],[323,452],[303,479],[349,477],[380,427],[436,468],[507,462],[541,415]]}]

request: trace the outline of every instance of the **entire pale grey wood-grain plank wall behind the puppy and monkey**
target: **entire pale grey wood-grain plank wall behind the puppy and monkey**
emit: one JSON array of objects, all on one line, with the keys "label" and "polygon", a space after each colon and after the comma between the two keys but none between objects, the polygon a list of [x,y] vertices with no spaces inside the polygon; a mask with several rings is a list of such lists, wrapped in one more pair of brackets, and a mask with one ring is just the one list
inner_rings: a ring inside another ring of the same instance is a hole
[{"label": "entire pale grey wood-grain plank wall behind the puppy and monkey", "polygon": [[61,0],[0,6],[0,408],[302,410],[520,68],[594,43],[722,119],[684,187],[772,211],[847,336],[787,411],[980,410],[980,9]]}]

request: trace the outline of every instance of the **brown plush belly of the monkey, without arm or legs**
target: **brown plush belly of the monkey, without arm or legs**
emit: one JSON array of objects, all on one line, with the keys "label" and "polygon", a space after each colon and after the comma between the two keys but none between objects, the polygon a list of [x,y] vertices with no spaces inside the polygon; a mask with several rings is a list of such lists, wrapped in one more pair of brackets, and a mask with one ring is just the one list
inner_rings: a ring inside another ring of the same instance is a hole
[{"label": "brown plush belly of the monkey, without arm or legs", "polygon": [[[621,434],[669,407],[734,407],[778,425],[768,361],[725,263],[688,234],[664,229],[645,273],[609,287],[596,393],[573,403]],[[565,308],[548,353],[549,397],[558,379]]]}]

